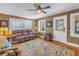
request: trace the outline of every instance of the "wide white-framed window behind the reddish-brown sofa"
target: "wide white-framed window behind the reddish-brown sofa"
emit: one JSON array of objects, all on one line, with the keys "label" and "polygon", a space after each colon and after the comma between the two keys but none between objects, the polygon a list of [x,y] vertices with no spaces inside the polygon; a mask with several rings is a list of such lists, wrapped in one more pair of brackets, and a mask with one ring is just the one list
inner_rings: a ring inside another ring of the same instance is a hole
[{"label": "wide white-framed window behind the reddish-brown sofa", "polygon": [[10,29],[11,30],[32,29],[32,21],[11,18],[10,19]]}]

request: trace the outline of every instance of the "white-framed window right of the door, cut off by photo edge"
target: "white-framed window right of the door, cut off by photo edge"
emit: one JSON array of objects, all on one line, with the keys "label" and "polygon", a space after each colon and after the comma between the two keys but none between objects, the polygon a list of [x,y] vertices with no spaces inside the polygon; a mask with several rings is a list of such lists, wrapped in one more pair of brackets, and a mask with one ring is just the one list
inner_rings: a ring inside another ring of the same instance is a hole
[{"label": "white-framed window right of the door, cut off by photo edge", "polygon": [[74,37],[79,37],[79,13],[71,14],[70,35]]}]

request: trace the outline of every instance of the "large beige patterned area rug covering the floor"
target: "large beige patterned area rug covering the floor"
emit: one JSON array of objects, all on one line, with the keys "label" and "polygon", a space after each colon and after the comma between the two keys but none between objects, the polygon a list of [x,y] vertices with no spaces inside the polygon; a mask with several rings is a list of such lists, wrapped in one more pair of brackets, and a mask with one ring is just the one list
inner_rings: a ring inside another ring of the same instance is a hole
[{"label": "large beige patterned area rug covering the floor", "polygon": [[14,46],[21,50],[22,56],[74,56],[74,52],[71,52],[69,49],[41,39],[31,40]]}]

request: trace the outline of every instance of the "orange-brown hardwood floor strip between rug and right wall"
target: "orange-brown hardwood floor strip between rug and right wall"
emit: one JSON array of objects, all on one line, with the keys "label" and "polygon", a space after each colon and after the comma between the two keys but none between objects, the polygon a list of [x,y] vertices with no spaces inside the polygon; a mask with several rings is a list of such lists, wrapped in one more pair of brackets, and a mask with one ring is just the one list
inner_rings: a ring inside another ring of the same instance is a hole
[{"label": "orange-brown hardwood floor strip between rug and right wall", "polygon": [[79,56],[79,48],[78,47],[74,47],[74,46],[71,46],[71,45],[68,45],[65,43],[61,43],[61,42],[57,42],[57,41],[48,41],[48,42],[50,42],[52,44],[59,45],[59,46],[64,46],[64,47],[68,48],[69,50],[74,51],[75,56]]}]

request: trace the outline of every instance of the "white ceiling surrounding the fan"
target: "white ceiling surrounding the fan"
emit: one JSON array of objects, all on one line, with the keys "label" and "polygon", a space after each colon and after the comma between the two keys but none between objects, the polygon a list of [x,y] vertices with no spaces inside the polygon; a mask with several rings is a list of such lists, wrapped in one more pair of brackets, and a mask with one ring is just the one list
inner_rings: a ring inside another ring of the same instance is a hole
[{"label": "white ceiling surrounding the fan", "polygon": [[47,14],[36,14],[35,11],[28,11],[27,9],[34,8],[33,3],[0,3],[0,13],[20,16],[28,19],[38,19],[53,15],[62,11],[67,11],[74,8],[79,8],[79,3],[42,3],[42,7],[50,5],[50,9],[44,11]]}]

